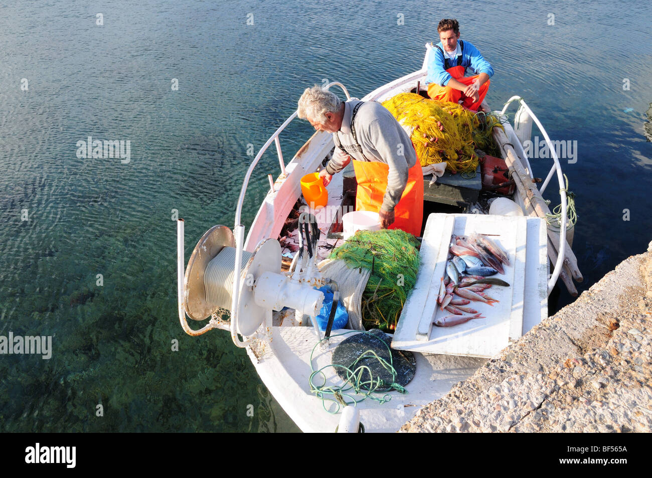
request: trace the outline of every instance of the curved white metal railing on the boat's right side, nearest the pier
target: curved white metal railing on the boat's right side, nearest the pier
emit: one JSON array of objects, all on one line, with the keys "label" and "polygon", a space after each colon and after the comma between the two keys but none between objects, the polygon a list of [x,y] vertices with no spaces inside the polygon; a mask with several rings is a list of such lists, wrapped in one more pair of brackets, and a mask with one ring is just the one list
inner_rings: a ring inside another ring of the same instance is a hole
[{"label": "curved white metal railing on the boat's right side, nearest the pier", "polygon": [[566,186],[564,183],[564,177],[563,173],[561,172],[561,165],[559,164],[559,158],[557,157],[557,152],[555,147],[552,145],[552,142],[550,141],[550,136],[548,136],[548,132],[546,132],[546,129],[543,127],[541,124],[541,121],[539,121],[539,118],[537,118],[537,115],[532,112],[532,110],[527,106],[527,103],[525,100],[519,96],[513,96],[507,100],[505,103],[505,106],[503,106],[503,110],[500,112],[501,116],[505,115],[505,112],[507,111],[507,108],[509,107],[512,102],[518,101],[520,104],[520,108],[523,108],[525,112],[533,119],[533,121],[536,123],[536,125],[539,127],[539,131],[541,131],[541,134],[543,134],[544,139],[546,140],[546,144],[548,145],[548,149],[550,150],[550,155],[552,156],[552,167],[550,168],[550,172],[548,173],[548,176],[546,177],[546,180],[543,182],[541,185],[541,188],[539,189],[539,193],[543,194],[544,190],[546,190],[546,187],[548,187],[548,183],[550,183],[550,180],[554,176],[555,173],[557,173],[557,182],[559,183],[559,198],[561,199],[561,214],[560,214],[560,220],[559,220],[559,247],[557,248],[558,251],[558,256],[557,256],[557,261],[554,265],[554,271],[552,275],[550,276],[550,280],[548,280],[548,295],[550,295],[550,292],[552,292],[552,288],[554,288],[557,279],[559,278],[559,274],[561,274],[561,267],[563,264],[563,261],[565,259],[565,252],[566,252],[566,223],[567,223],[567,197],[566,197]]}]

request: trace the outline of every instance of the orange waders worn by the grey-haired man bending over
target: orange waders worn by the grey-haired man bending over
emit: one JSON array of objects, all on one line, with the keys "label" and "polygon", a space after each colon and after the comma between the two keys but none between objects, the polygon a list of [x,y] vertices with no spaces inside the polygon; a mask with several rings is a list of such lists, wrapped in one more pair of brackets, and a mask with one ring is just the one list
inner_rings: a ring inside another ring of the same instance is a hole
[{"label": "orange waders worn by the grey-haired man bending over", "polygon": [[[355,210],[378,213],[387,190],[389,166],[377,161],[365,162],[353,159],[353,168],[358,181]],[[419,236],[422,222],[423,173],[417,158],[415,165],[408,170],[408,184],[403,190],[401,200],[394,207],[394,222],[388,229],[400,229]]]}]

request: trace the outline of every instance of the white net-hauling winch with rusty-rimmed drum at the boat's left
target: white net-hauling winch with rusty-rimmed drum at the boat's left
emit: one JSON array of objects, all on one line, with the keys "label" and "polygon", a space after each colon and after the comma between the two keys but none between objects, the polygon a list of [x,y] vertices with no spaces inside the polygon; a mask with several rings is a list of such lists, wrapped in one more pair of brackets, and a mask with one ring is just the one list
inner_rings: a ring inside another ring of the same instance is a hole
[{"label": "white net-hauling winch with rusty-rimmed drum at the boat's left", "polygon": [[[260,325],[272,325],[272,311],[293,308],[297,314],[313,318],[319,313],[323,293],[281,273],[281,247],[276,239],[258,243],[254,252],[237,250],[233,233],[226,226],[213,226],[195,246],[188,267],[184,268],[184,222],[177,222],[177,288],[179,320],[188,335],[201,335],[210,329],[230,330],[238,346],[248,342]],[[184,273],[185,271],[185,273]],[[239,280],[235,280],[239,273]],[[233,297],[237,293],[236,313]],[[220,318],[231,312],[231,320]],[[186,321],[211,318],[205,327],[194,330]],[[233,320],[237,318],[237,320]],[[313,320],[313,323],[316,321]]]}]

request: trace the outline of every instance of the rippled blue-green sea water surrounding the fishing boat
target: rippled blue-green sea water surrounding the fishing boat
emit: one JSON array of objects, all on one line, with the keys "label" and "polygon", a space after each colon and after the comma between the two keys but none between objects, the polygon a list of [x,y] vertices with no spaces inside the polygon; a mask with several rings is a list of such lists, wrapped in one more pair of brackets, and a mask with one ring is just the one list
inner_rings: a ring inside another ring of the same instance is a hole
[{"label": "rippled blue-green sea water surrounding the fishing boat", "polygon": [[[577,141],[577,161],[563,168],[576,193],[580,291],[643,252],[652,12],[628,5],[5,3],[0,335],[52,335],[53,351],[0,356],[0,430],[297,430],[227,333],[181,331],[173,209],[186,220],[187,258],[205,230],[233,226],[248,145],[267,140],[305,87],[339,80],[362,97],[417,70],[442,17],[458,18],[492,63],[494,108],[521,95],[553,139]],[[291,125],[286,160],[309,133]],[[88,136],[128,140],[130,161],[78,158]],[[533,160],[537,175],[544,164]],[[271,153],[254,174],[246,224],[267,173],[278,174]]]}]

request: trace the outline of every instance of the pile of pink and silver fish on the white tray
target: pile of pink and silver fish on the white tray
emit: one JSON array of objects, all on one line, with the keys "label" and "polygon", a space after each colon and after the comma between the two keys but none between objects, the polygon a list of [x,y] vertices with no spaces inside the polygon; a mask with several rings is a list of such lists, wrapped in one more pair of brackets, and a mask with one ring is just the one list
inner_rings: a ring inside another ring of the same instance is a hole
[{"label": "pile of pink and silver fish on the white tray", "polygon": [[[492,277],[504,274],[503,265],[511,265],[507,252],[486,235],[473,233],[469,237],[451,236],[446,273],[441,278],[437,303],[439,310],[451,315],[437,318],[437,327],[452,327],[473,319],[483,319],[480,312],[469,307],[471,301],[493,306],[497,303],[486,290],[492,286],[509,287],[504,280]],[[471,314],[471,315],[467,315]]]}]

